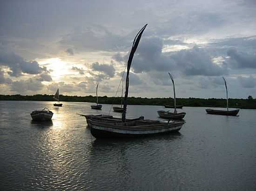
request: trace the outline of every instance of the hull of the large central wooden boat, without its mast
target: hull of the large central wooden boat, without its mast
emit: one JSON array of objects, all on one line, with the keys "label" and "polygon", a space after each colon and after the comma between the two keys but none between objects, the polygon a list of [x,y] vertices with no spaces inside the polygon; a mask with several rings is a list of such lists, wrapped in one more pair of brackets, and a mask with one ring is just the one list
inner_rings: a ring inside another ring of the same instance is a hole
[{"label": "hull of the large central wooden boat, without its mast", "polygon": [[136,120],[106,123],[96,119],[87,119],[91,134],[96,139],[133,138],[153,134],[178,132],[184,122],[162,122],[155,120]]}]

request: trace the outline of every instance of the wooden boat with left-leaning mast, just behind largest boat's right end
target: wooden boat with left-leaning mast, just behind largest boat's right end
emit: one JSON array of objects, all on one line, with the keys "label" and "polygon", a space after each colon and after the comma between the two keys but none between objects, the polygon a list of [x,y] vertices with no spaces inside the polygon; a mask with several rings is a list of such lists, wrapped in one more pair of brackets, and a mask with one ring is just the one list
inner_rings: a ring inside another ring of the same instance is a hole
[{"label": "wooden boat with left-leaning mast, just behind largest boat's right end", "polygon": [[176,95],[175,95],[175,83],[174,83],[174,78],[173,76],[168,72],[171,81],[173,83],[173,93],[174,93],[174,112],[169,112],[169,111],[157,111],[159,117],[164,118],[164,119],[183,119],[186,115],[185,112],[178,113],[176,108]]}]

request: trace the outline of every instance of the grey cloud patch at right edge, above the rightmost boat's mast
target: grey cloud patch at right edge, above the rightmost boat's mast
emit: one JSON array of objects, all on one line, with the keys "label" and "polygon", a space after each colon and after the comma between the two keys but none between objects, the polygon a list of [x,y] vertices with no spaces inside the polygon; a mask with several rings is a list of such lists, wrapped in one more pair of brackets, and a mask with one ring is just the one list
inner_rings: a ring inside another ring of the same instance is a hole
[{"label": "grey cloud patch at right edge, above the rightmost boat's mast", "polygon": [[227,54],[230,57],[230,64],[232,67],[256,68],[256,54],[237,51],[235,48],[230,48],[227,51]]}]

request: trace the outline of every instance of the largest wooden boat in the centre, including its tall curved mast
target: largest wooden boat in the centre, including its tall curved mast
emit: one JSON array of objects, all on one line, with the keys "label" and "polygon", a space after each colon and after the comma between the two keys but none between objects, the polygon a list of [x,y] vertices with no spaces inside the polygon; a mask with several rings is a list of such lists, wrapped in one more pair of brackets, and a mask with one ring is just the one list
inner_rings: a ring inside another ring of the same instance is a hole
[{"label": "largest wooden boat in the centre, including its tall curved mast", "polygon": [[[95,118],[95,115],[91,115],[91,118],[87,118],[87,123],[90,128],[91,134],[97,138],[121,138],[121,137],[137,137],[151,134],[166,134],[171,132],[177,132],[181,129],[184,122],[168,121],[155,121],[136,119],[129,121],[126,119],[127,98],[129,90],[129,71],[132,64],[135,51],[139,45],[141,35],[144,32],[147,25],[144,25],[142,29],[135,36],[132,49],[128,58],[127,64],[127,76],[126,76],[126,91],[123,100],[123,112],[122,118],[118,118],[119,121],[106,121],[106,119]],[[105,120],[105,121],[104,121]]]}]

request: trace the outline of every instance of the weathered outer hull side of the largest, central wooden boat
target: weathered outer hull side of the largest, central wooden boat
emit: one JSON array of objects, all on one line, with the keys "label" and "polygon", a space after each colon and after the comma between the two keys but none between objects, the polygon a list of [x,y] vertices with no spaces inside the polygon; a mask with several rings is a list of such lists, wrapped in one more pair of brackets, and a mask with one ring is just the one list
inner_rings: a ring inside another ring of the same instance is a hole
[{"label": "weathered outer hull side of the largest, central wooden boat", "polygon": [[[147,121],[147,120],[141,120]],[[135,121],[136,122],[136,121]],[[179,123],[162,123],[160,125],[148,125],[148,126],[119,126],[115,123],[106,124],[104,122],[87,120],[91,134],[96,139],[107,138],[135,138],[141,136],[150,136],[154,134],[168,134],[178,132],[183,125],[183,122]]]}]

